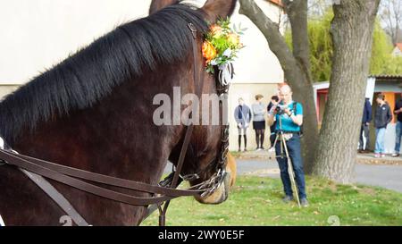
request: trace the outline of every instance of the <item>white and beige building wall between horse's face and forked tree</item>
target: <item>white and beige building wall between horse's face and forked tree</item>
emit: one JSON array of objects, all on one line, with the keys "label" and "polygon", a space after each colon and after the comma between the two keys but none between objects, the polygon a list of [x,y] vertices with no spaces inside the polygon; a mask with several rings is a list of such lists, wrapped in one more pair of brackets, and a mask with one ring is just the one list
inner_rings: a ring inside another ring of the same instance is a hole
[{"label": "white and beige building wall between horse's face and forked tree", "polygon": [[[275,22],[283,18],[281,8],[264,0],[255,0],[255,3],[264,13]],[[239,97],[243,97],[246,104],[251,107],[255,103],[255,95],[264,96],[264,104],[275,95],[277,84],[283,82],[283,71],[277,57],[269,49],[264,35],[256,28],[254,23],[244,15],[239,14],[239,4],[231,21],[236,25],[248,28],[242,37],[242,42],[246,46],[239,53],[239,59],[234,63],[236,72],[233,84],[229,93],[230,108],[230,150],[238,149],[238,130],[234,120],[234,109],[239,105]],[[282,26],[282,25],[281,25]],[[283,29],[281,29],[283,31]],[[282,32],[283,33],[283,32]],[[266,126],[264,147],[269,148],[269,127]],[[255,144],[255,131],[251,125],[247,130],[247,149],[253,150]],[[243,143],[243,142],[242,142]],[[243,145],[244,146],[244,145]]]}]

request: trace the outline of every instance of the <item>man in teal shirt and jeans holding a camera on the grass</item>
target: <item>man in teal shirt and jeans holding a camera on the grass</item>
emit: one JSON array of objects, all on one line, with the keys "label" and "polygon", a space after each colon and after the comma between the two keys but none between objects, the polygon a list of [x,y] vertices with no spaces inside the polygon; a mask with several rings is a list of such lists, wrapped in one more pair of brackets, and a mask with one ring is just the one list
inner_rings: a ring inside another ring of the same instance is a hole
[{"label": "man in teal shirt and jeans holding a camera on the grass", "polygon": [[[290,162],[295,173],[300,205],[308,206],[305,173],[303,172],[300,148],[300,127],[303,124],[303,106],[292,100],[292,90],[289,85],[284,85],[280,88],[279,97],[281,101],[279,105],[276,105],[275,108],[272,109],[272,113],[269,114],[268,123],[272,125],[272,123],[276,121],[276,133],[283,133],[283,139],[286,141]],[[281,180],[285,191],[283,201],[288,203],[293,200],[293,190],[288,171],[288,158],[283,156],[280,139],[276,142],[275,152],[281,169]]]}]

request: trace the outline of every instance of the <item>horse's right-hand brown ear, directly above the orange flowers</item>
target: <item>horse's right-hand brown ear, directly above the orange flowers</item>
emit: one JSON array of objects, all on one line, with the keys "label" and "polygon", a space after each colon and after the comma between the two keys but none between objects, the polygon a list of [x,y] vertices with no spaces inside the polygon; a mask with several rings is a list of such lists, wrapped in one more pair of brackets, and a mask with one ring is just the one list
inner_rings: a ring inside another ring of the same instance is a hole
[{"label": "horse's right-hand brown ear, directly above the orange flowers", "polygon": [[218,18],[230,17],[237,2],[238,0],[208,0],[202,10],[207,14],[207,21],[214,23]]}]

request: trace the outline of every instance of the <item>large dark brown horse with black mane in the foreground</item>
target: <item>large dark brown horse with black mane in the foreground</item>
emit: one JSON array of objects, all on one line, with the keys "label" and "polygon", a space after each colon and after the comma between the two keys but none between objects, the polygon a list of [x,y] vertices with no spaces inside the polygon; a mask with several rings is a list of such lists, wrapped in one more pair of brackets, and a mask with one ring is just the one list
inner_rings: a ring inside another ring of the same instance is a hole
[{"label": "large dark brown horse with black mane in the foreground", "polygon": [[[163,1],[161,1],[163,2]],[[0,134],[13,149],[57,164],[156,185],[170,160],[177,164],[184,125],[157,126],[157,94],[195,93],[192,33],[197,28],[198,72],[203,32],[219,16],[229,16],[235,0],[208,0],[200,9],[159,5],[147,18],[123,24],[62,63],[40,74],[0,103]],[[216,93],[205,73],[203,94]],[[185,109],[181,106],[181,113]],[[221,149],[221,127],[195,126],[182,171],[213,164]],[[205,171],[197,184],[214,174]],[[49,180],[50,181],[50,180]],[[228,181],[204,203],[228,197]],[[132,225],[147,206],[130,206],[50,181],[88,223]],[[65,215],[51,198],[11,165],[0,166],[0,215],[7,225],[60,225]],[[151,194],[136,192],[138,197]]]}]

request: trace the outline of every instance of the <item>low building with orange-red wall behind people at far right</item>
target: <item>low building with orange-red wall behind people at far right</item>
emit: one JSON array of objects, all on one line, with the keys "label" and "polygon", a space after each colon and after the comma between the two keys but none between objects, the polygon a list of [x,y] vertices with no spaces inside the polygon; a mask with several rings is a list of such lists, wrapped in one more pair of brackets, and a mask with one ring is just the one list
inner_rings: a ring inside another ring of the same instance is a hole
[{"label": "low building with orange-red wall behind people at far right", "polygon": [[[314,100],[317,112],[317,118],[319,125],[321,126],[323,114],[325,112],[325,103],[328,99],[328,91],[330,88],[330,82],[317,82],[313,85],[314,88]],[[373,107],[373,114],[375,113],[377,104],[375,97],[379,94],[385,95],[385,100],[388,102],[392,112],[394,110],[396,102],[401,99],[402,93],[402,75],[375,75],[370,76],[367,79],[367,86],[365,90],[365,97],[370,98],[370,102]],[[363,110],[363,107],[362,107]],[[373,122],[370,125],[373,129]],[[394,116],[392,122],[388,125],[385,132],[385,153],[393,153],[395,146],[395,126],[396,118]],[[375,131],[370,130],[371,144],[373,148],[373,142],[375,139]]]}]

